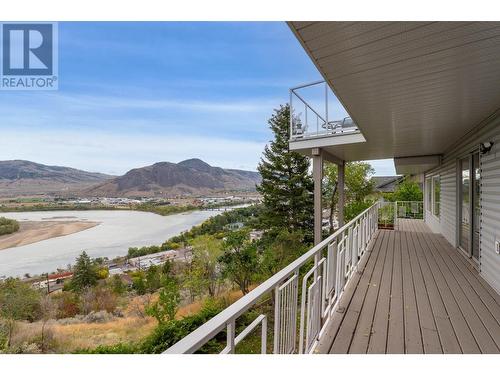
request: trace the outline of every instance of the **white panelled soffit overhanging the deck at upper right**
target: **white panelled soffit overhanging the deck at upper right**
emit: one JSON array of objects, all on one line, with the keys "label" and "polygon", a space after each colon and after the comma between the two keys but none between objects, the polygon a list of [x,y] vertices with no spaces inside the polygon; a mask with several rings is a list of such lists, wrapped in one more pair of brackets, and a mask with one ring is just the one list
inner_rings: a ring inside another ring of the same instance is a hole
[{"label": "white panelled soffit overhanging the deck at upper right", "polygon": [[344,160],[442,154],[500,108],[500,22],[289,22],[366,143]]}]

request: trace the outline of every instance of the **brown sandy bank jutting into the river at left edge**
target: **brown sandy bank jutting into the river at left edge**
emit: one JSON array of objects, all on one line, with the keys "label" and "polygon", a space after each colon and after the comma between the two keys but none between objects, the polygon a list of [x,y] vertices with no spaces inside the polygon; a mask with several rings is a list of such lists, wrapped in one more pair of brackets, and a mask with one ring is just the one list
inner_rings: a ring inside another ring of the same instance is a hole
[{"label": "brown sandy bank jutting into the river at left edge", "polygon": [[24,221],[19,230],[0,237],[0,250],[33,244],[50,238],[67,236],[99,225],[89,221]]}]

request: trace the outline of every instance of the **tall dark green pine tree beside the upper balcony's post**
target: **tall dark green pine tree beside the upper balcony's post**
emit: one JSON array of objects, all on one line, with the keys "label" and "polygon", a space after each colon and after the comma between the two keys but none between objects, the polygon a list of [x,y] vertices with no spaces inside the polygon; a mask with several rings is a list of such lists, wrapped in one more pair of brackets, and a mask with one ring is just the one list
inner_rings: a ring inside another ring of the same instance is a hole
[{"label": "tall dark green pine tree beside the upper balcony's post", "polygon": [[309,159],[288,148],[290,107],[280,106],[268,121],[274,140],[266,145],[258,170],[263,196],[262,222],[272,231],[302,231],[312,238],[314,225],[313,180]]}]

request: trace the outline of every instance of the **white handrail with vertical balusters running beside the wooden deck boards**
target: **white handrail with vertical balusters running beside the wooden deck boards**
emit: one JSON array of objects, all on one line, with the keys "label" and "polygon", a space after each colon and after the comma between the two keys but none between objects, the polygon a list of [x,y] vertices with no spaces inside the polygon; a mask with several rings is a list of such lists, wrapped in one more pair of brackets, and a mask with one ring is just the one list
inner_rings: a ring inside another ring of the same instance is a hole
[{"label": "white handrail with vertical balusters running beside the wooden deck boards", "polygon": [[[364,255],[368,242],[376,232],[378,207],[379,203],[377,202],[363,211],[328,238],[321,241],[308,252],[250,291],[247,295],[240,298],[214,318],[171,346],[164,353],[193,353],[225,328],[227,328],[228,333],[228,346],[223,352],[234,352],[236,319],[255,305],[263,295],[273,291],[276,299],[284,298],[282,303],[283,306],[286,307],[285,315],[283,315],[283,311],[279,309],[279,306],[275,311],[274,352],[285,353],[295,351],[296,319],[298,315],[298,274],[299,269],[312,259],[315,260],[315,266],[313,268],[316,268],[314,271],[314,281],[307,290],[302,290],[303,296],[305,293],[308,294],[309,303],[306,305],[302,303],[301,306],[302,313],[308,314],[308,322],[307,324],[306,322],[301,322],[301,327],[307,326],[301,328],[301,330],[305,329],[306,337],[312,338],[312,341],[319,338],[320,329],[326,325],[329,314],[334,311],[334,305],[338,302],[346,283],[349,281],[349,277],[352,275],[357,263]],[[320,257],[318,255],[321,255],[322,251],[325,249],[328,250],[326,256],[319,259]],[[344,267],[342,267],[342,265],[344,265]],[[309,274],[308,277],[309,276],[311,275]],[[307,285],[307,282],[304,285]],[[311,292],[311,290],[313,290],[313,292]],[[321,296],[321,301],[317,297],[318,293]],[[307,309],[307,311],[304,309]],[[320,315],[317,315],[318,311],[321,312]],[[311,315],[313,313],[314,316]],[[309,324],[310,320],[314,324]],[[301,331],[300,336],[304,337],[302,333]],[[283,340],[277,340],[277,337]],[[264,332],[262,340],[265,340]],[[301,348],[303,344],[304,343],[301,342]],[[305,351],[309,352],[313,347],[312,344],[311,342],[305,343]]]}]

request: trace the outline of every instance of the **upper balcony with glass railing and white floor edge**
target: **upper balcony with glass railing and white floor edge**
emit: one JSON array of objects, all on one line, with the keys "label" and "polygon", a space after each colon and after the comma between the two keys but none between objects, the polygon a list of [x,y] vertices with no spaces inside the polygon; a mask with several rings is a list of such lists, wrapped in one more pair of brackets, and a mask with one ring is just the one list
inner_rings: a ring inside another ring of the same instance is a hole
[{"label": "upper balcony with glass railing and white floor edge", "polygon": [[290,89],[290,149],[365,142],[356,123],[325,81]]}]

